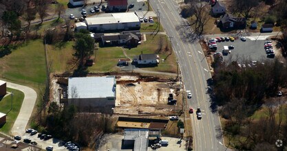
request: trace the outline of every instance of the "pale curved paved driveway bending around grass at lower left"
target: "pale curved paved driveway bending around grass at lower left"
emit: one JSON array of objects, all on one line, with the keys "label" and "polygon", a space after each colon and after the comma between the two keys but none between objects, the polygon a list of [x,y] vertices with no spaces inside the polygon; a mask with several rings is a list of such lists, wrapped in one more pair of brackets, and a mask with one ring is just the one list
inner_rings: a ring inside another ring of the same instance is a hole
[{"label": "pale curved paved driveway bending around grass at lower left", "polygon": [[32,114],[37,94],[36,91],[28,86],[14,84],[11,82],[7,82],[7,87],[22,91],[25,95],[19,115],[11,130],[12,135],[23,135],[25,134],[25,128]]}]

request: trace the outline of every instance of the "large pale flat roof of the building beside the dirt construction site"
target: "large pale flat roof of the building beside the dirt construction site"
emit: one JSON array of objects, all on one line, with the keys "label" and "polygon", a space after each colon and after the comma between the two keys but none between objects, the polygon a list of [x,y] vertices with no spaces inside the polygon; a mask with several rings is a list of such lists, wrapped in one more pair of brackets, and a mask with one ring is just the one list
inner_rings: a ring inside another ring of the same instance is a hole
[{"label": "large pale flat roof of the building beside the dirt construction site", "polygon": [[69,78],[68,99],[116,97],[116,78],[105,77]]}]

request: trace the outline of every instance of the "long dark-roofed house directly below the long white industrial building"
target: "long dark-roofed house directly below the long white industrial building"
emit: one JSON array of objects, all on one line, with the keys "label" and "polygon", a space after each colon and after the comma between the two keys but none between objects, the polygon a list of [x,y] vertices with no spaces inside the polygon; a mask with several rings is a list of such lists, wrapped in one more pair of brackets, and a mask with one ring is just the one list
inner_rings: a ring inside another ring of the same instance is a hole
[{"label": "long dark-roofed house directly below the long white industrial building", "polygon": [[135,47],[140,43],[141,34],[122,32],[116,35],[100,36],[103,45],[127,45]]}]

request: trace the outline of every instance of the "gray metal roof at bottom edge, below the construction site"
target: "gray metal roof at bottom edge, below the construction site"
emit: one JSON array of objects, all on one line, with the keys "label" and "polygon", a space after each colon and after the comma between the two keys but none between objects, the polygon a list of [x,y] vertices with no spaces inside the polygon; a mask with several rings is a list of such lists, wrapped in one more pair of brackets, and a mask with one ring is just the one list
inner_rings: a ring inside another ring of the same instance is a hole
[{"label": "gray metal roof at bottom edge, below the construction site", "polygon": [[134,150],[147,150],[149,143],[149,130],[147,129],[125,129],[124,140],[134,140]]}]

